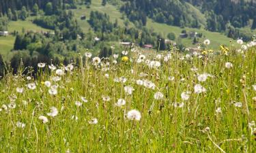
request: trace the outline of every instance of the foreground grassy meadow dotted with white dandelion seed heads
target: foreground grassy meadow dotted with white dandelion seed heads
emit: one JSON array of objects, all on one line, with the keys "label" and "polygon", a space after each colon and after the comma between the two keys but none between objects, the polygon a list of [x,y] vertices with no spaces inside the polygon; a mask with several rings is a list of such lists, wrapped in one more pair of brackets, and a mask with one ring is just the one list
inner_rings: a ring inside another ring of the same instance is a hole
[{"label": "foreground grassy meadow dotted with white dandelion seed heads", "polygon": [[256,152],[255,47],[132,51],[5,75],[1,152]]}]

